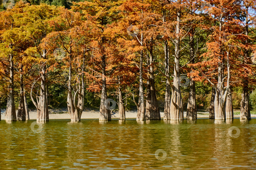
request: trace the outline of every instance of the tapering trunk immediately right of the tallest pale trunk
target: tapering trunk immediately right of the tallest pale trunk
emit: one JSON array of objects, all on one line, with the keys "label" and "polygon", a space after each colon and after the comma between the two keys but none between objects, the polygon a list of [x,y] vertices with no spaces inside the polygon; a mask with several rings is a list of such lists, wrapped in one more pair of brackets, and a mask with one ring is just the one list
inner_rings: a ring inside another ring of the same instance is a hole
[{"label": "tapering trunk immediately right of the tallest pale trunk", "polygon": [[190,91],[187,102],[187,115],[186,119],[195,120],[197,119],[197,103],[196,103],[196,93],[195,93],[195,81],[191,79],[190,81]]}]

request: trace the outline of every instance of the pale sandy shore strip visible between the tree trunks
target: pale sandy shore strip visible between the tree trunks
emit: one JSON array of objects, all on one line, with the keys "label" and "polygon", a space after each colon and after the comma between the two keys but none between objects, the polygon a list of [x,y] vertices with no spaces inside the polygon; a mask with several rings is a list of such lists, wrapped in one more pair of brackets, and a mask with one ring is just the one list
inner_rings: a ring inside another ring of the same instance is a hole
[{"label": "pale sandy shore strip visible between the tree trunks", "polygon": [[[16,110],[17,114],[17,110]],[[160,112],[161,118],[163,118],[163,112]],[[125,111],[125,118],[136,118],[137,110]],[[1,110],[1,119],[4,120],[5,109]],[[118,111],[112,112],[111,118],[118,118]],[[208,112],[198,112],[198,118],[209,118]],[[234,115],[234,117],[239,117],[239,115]],[[256,117],[256,114],[251,114],[251,117]],[[29,118],[31,120],[36,119],[36,110],[29,111]],[[186,111],[184,111],[184,119],[186,118]],[[70,119],[67,109],[49,109],[49,119]],[[82,113],[81,119],[99,119],[99,110],[85,110]]]}]

